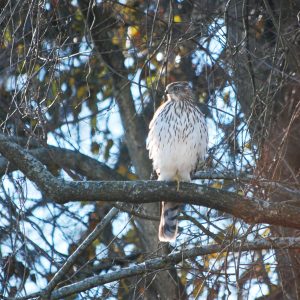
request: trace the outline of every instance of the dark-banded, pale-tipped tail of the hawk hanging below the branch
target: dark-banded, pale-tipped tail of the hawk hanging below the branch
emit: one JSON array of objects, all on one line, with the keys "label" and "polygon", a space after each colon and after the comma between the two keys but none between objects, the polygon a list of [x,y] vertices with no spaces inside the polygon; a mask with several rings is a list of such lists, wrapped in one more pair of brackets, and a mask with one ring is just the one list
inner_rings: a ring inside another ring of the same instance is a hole
[{"label": "dark-banded, pale-tipped tail of the hawk hanging below the branch", "polygon": [[176,239],[178,228],[179,204],[162,202],[158,238],[162,242],[171,242]]}]

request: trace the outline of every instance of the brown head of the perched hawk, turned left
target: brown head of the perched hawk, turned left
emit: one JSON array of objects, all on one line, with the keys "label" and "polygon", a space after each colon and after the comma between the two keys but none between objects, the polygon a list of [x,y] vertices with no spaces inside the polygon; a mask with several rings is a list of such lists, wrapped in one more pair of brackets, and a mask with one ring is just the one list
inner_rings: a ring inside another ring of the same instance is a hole
[{"label": "brown head of the perched hawk, turned left", "polygon": [[165,94],[175,101],[194,100],[193,90],[187,81],[176,81],[167,85]]}]

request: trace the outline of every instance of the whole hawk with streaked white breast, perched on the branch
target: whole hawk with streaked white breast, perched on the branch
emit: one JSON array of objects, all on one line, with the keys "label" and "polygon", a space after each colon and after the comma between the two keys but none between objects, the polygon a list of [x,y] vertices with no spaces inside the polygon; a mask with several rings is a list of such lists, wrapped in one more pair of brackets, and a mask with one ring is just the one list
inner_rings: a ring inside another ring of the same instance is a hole
[{"label": "whole hawk with streaked white breast, perched on the branch", "polygon": [[[157,109],[149,125],[147,149],[158,180],[176,180],[179,188],[180,181],[191,181],[191,173],[204,160],[207,125],[188,82],[170,83],[165,93],[168,100]],[[178,203],[162,203],[160,241],[176,239],[178,213]]]}]

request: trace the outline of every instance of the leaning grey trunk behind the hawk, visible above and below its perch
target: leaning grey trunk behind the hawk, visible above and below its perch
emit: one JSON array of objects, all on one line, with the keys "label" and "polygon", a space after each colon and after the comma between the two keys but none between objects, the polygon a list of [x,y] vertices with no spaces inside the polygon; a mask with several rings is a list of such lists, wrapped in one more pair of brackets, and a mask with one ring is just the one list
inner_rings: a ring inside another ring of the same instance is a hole
[{"label": "leaning grey trunk behind the hawk, visible above and below its perch", "polygon": [[[114,97],[119,107],[126,145],[136,174],[140,179],[149,179],[152,166],[146,150],[147,126],[135,110],[122,49],[111,42],[113,30],[118,23],[116,16],[112,13],[113,3],[104,2],[94,5],[91,1],[81,0],[79,5],[85,16],[94,46],[103,64],[112,72]],[[97,24],[104,29],[98,30]],[[157,203],[143,204],[147,215],[159,216],[158,207]],[[143,251],[148,257],[166,252],[164,247],[159,247],[158,222],[138,219],[136,223]],[[128,295],[122,296],[127,299],[141,297],[143,299],[183,299],[180,296],[178,283],[174,280],[176,277],[175,269],[172,272],[162,271],[155,275],[150,272],[150,275],[145,278],[137,277],[131,280]]]}]

